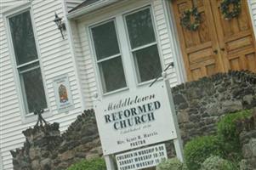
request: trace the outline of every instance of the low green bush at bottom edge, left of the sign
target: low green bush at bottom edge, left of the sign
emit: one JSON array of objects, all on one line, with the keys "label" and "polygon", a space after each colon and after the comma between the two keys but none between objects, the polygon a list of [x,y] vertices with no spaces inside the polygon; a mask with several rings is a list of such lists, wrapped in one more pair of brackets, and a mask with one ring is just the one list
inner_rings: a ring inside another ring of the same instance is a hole
[{"label": "low green bush at bottom edge, left of the sign", "polygon": [[67,170],[106,170],[105,161],[102,158],[82,160],[71,165]]}]

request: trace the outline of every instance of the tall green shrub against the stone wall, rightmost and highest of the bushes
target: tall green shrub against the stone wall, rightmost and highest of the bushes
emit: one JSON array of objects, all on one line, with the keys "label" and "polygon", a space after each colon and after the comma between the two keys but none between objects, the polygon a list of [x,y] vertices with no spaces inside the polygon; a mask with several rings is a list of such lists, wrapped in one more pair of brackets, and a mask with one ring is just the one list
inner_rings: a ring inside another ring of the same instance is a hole
[{"label": "tall green shrub against the stone wall, rightmost and highest of the bushes", "polygon": [[252,116],[252,111],[239,111],[224,116],[218,123],[218,139],[225,156],[240,157],[241,147],[236,122]]}]

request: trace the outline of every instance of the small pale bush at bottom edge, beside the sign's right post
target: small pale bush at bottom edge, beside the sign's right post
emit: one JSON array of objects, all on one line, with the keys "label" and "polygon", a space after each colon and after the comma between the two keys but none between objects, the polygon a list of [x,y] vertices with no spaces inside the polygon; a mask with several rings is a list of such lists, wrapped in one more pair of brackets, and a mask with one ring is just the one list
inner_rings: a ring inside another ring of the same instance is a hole
[{"label": "small pale bush at bottom edge, beside the sign's right post", "polygon": [[187,170],[185,164],[177,158],[164,160],[156,166],[156,170]]}]

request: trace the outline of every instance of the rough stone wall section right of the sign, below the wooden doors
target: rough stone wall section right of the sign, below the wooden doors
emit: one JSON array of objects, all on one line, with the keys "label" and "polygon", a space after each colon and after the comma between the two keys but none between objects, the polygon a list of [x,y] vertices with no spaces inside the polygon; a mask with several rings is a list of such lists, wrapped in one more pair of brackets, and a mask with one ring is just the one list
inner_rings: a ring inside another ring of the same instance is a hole
[{"label": "rough stone wall section right of the sign, below the wooden doors", "polygon": [[220,116],[256,106],[256,74],[230,71],[172,89],[182,139],[216,132]]}]

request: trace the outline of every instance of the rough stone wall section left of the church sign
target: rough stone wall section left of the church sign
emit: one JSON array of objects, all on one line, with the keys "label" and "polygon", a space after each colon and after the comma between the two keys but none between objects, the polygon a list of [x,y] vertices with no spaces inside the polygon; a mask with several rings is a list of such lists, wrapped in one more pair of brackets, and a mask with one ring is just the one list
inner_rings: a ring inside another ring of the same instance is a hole
[{"label": "rough stone wall section left of the church sign", "polygon": [[76,161],[102,156],[93,110],[77,116],[61,135],[58,123],[35,126],[23,133],[24,147],[11,151],[14,170],[65,170]]}]

